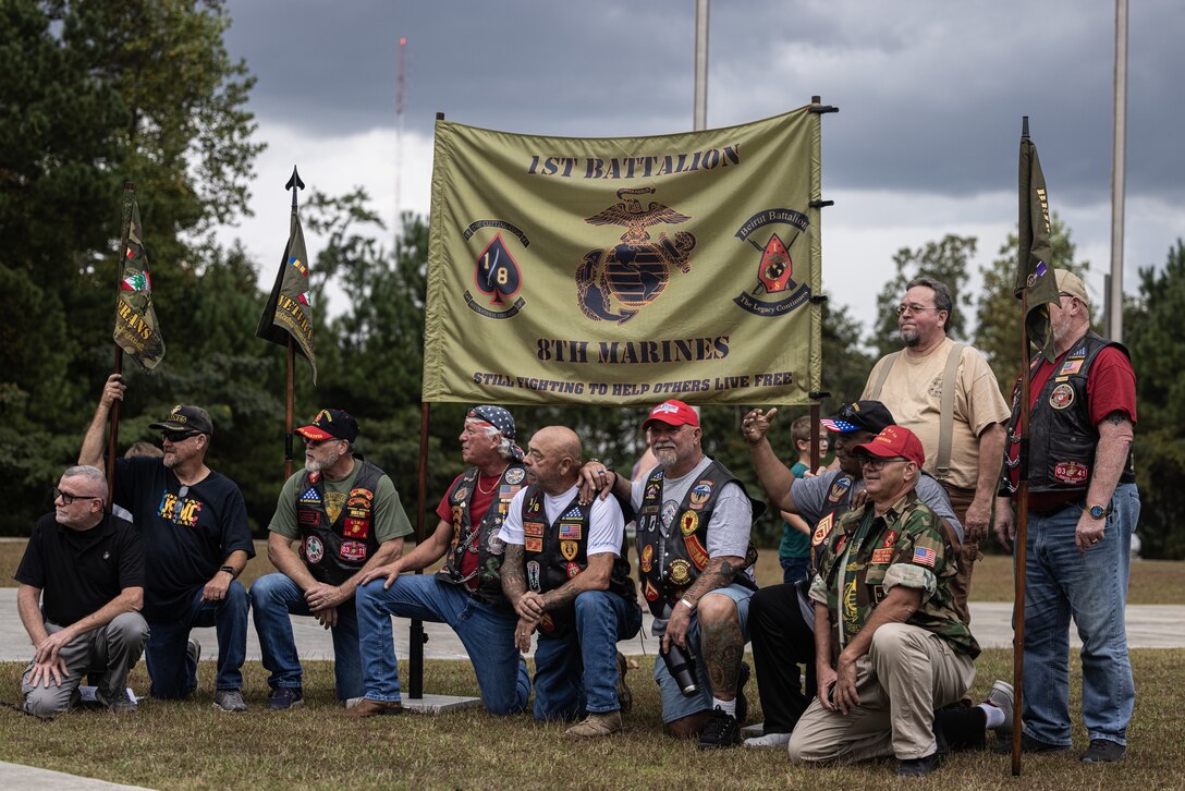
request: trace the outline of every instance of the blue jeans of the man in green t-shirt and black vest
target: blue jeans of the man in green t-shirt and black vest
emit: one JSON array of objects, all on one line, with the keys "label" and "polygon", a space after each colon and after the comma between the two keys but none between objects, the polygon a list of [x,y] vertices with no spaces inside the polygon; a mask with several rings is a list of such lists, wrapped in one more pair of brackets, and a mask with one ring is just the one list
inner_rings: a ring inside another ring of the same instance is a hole
[{"label": "blue jeans of the man in green t-shirt and black vest", "polygon": [[[251,585],[251,614],[260,634],[263,666],[271,671],[268,685],[273,689],[301,688],[300,657],[293,638],[293,623],[288,617],[309,615],[305,592],[286,574],[267,574]],[[361,697],[363,659],[358,650],[358,614],[354,600],[338,605],[338,623],[333,633],[333,674],[338,697],[347,701]]]}]

